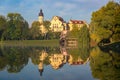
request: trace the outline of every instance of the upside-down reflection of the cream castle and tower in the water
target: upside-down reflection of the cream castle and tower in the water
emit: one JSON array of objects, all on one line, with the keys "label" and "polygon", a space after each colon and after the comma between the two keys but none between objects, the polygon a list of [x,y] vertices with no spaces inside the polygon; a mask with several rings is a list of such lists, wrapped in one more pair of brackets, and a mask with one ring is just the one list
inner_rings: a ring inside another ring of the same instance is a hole
[{"label": "upside-down reflection of the cream castle and tower in the water", "polygon": [[52,53],[50,55],[49,52],[47,52],[46,50],[42,50],[40,51],[39,64],[38,64],[38,68],[41,76],[44,71],[44,61],[46,59],[48,59],[48,62],[51,65],[51,67],[57,70],[62,66],[64,66],[64,64],[66,63],[68,63],[69,65],[86,64],[89,61],[89,56],[85,60],[83,60],[80,56],[74,57],[74,55],[71,55],[67,52],[66,47],[62,47],[62,46],[60,46],[60,52]]}]

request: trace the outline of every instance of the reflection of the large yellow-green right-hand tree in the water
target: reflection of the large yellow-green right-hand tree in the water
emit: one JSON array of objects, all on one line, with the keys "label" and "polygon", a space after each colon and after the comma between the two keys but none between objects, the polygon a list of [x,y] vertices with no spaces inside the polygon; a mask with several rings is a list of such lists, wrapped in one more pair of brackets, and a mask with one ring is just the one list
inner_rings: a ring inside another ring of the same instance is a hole
[{"label": "reflection of the large yellow-green right-hand tree in the water", "polygon": [[103,52],[99,47],[91,50],[90,66],[94,78],[120,80],[120,52]]}]

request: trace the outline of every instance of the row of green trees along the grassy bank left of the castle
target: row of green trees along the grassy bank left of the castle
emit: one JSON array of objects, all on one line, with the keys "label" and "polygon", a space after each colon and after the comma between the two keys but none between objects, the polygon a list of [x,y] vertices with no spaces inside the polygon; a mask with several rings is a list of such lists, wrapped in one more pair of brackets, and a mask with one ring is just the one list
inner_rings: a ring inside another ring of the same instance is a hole
[{"label": "row of green trees along the grassy bank left of the castle", "polygon": [[[44,21],[44,25],[48,29],[50,22]],[[19,13],[8,13],[7,17],[0,15],[0,40],[43,40],[59,38],[60,33],[48,31],[47,34],[42,34],[39,26],[39,22],[34,21],[29,27],[28,22]]]}]

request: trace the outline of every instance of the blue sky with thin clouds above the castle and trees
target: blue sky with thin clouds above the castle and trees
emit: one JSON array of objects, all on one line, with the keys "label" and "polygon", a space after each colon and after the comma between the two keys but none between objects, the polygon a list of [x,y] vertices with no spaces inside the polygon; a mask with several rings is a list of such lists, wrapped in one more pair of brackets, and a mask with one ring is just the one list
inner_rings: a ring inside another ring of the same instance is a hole
[{"label": "blue sky with thin clouds above the castle and trees", "polygon": [[[44,20],[60,16],[66,22],[70,19],[85,20],[90,23],[92,12],[108,3],[109,0],[0,0],[0,15],[20,13],[31,24],[38,20],[40,9]],[[120,0],[115,0],[120,2]]]}]

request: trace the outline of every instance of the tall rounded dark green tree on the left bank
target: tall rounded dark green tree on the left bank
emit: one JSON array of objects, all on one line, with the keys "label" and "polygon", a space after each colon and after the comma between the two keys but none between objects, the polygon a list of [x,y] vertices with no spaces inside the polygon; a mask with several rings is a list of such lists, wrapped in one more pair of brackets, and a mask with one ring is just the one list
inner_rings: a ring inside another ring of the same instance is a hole
[{"label": "tall rounded dark green tree on the left bank", "polygon": [[7,28],[2,35],[3,40],[23,40],[27,38],[28,23],[19,13],[8,13]]}]

